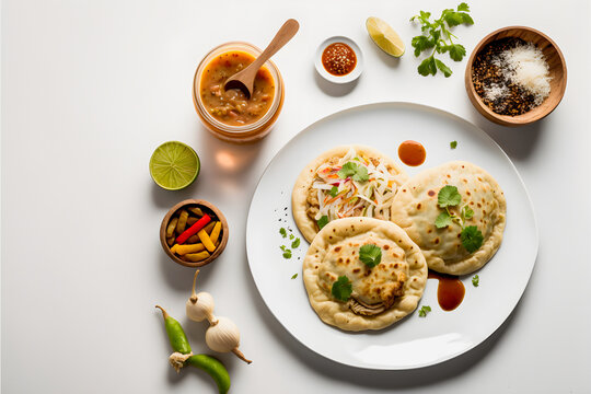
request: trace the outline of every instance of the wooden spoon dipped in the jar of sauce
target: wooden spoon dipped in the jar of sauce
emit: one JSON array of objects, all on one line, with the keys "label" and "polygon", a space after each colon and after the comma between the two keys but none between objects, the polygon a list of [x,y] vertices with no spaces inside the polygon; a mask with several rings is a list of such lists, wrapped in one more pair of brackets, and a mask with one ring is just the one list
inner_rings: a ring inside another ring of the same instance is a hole
[{"label": "wooden spoon dipped in the jar of sauce", "polygon": [[239,71],[230,77],[225,81],[223,89],[240,89],[250,99],[253,92],[254,79],[260,66],[263,66],[265,61],[281,49],[281,47],[286,45],[296,35],[296,33],[298,33],[299,28],[300,24],[293,19],[290,19],[283,23],[270,44],[265,48],[265,50],[263,50],[263,54],[260,54],[260,56],[257,57],[244,70]]}]

